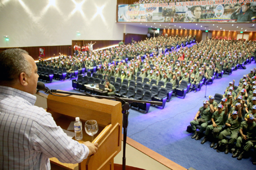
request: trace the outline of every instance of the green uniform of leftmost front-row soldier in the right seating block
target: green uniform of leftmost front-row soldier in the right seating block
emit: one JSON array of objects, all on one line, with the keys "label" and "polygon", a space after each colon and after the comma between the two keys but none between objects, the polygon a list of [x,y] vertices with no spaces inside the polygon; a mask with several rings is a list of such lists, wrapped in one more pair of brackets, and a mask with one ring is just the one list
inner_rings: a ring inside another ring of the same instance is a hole
[{"label": "green uniform of leftmost front-row soldier in the right seating block", "polygon": [[205,128],[207,128],[208,121],[212,117],[212,113],[210,113],[209,106],[207,108],[200,107],[199,112],[200,112],[201,117],[199,119],[197,119],[197,121],[192,120],[190,122],[190,124],[191,124],[191,128],[193,131],[196,131],[196,125],[201,125],[200,133],[203,133]]}]

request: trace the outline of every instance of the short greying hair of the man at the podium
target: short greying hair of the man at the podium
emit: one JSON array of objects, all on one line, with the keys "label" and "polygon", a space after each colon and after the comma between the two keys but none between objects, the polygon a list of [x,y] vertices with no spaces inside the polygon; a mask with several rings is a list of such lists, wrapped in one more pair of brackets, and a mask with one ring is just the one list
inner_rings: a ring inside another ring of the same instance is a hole
[{"label": "short greying hair of the man at the podium", "polygon": [[20,73],[31,76],[32,65],[24,57],[28,54],[25,50],[14,48],[7,49],[0,53],[0,83],[13,82],[19,77]]}]

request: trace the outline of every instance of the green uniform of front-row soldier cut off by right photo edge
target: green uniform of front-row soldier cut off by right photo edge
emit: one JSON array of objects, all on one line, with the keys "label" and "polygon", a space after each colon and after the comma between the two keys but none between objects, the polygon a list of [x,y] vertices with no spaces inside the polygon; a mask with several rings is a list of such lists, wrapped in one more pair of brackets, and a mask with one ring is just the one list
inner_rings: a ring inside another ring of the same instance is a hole
[{"label": "green uniform of front-row soldier cut off by right photo edge", "polygon": [[[256,131],[256,123],[248,124],[247,121],[241,122],[240,129],[242,129],[243,134],[247,136],[247,140],[243,140],[240,136],[237,138],[236,147],[240,149],[242,147],[242,143],[245,143],[245,147],[243,150],[249,151],[251,147],[255,145],[255,143],[251,141],[256,141],[255,131]],[[256,148],[256,146],[254,146]]]}]

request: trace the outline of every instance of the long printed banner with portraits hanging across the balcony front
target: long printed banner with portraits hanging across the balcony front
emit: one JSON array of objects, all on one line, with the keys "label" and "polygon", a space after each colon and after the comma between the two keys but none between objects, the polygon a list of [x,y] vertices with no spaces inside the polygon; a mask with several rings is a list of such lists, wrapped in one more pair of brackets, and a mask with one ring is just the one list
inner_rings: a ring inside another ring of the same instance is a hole
[{"label": "long printed banner with portraits hanging across the balcony front", "polygon": [[256,0],[118,5],[118,22],[256,22]]}]

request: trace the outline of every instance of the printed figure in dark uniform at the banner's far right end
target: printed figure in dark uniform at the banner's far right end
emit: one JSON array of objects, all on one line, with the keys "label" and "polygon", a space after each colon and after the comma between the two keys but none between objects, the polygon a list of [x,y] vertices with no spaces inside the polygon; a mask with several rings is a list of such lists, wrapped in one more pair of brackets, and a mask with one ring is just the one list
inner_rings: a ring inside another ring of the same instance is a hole
[{"label": "printed figure in dark uniform at the banner's far right end", "polygon": [[[231,19],[236,19],[237,22],[256,22],[256,14],[250,9],[251,3],[242,3],[241,7],[238,8],[231,16]],[[242,8],[242,13],[240,10]]]}]

